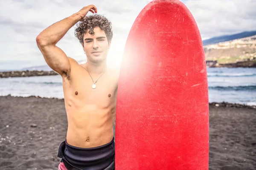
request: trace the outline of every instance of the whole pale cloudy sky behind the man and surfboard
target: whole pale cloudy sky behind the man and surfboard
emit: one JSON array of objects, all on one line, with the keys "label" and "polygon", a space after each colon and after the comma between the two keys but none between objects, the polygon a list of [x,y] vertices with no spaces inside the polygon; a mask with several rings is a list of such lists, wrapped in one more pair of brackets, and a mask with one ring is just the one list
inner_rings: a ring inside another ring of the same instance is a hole
[{"label": "whole pale cloudy sky behind the man and surfboard", "polygon": [[[90,4],[111,21],[113,39],[108,65],[118,66],[125,41],[140,11],[151,0],[0,0],[0,70],[46,65],[36,45],[41,31]],[[256,30],[256,0],[181,0],[195,18],[202,39]],[[163,7],[164,8],[164,7]],[[75,26],[57,43],[69,57],[86,56]]]}]

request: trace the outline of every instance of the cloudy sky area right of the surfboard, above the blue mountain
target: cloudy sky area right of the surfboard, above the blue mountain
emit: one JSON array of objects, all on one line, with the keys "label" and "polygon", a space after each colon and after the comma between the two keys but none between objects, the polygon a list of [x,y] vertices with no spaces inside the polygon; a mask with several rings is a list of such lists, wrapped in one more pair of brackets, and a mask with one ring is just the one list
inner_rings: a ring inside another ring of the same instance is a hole
[{"label": "cloudy sky area right of the surfboard, above the blue mountain", "polygon": [[256,28],[255,0],[187,0],[185,4],[195,17],[202,37]]}]

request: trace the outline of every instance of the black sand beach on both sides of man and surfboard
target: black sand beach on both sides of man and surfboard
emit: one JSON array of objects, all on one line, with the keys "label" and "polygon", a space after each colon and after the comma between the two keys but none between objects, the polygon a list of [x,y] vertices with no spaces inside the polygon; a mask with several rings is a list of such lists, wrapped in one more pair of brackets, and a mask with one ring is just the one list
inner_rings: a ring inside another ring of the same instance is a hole
[{"label": "black sand beach on both sides of man and surfboard", "polygon": [[[213,103],[209,120],[209,170],[255,170],[256,108]],[[57,170],[66,132],[63,99],[0,96],[0,170]]]}]

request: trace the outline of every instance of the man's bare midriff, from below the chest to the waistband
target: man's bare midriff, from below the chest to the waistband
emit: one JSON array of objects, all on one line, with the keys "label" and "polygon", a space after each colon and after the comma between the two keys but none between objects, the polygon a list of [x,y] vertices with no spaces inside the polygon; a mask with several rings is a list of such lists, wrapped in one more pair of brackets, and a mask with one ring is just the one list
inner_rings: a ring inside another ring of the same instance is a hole
[{"label": "man's bare midriff, from below the chest to the waistband", "polygon": [[113,139],[113,109],[97,105],[67,110],[67,143],[76,147],[97,147]]}]

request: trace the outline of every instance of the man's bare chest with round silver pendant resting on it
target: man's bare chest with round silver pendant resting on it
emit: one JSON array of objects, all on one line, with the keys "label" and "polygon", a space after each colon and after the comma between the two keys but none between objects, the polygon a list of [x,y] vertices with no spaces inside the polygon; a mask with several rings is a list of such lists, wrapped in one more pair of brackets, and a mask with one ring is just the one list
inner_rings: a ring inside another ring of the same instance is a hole
[{"label": "man's bare chest with round silver pendant resting on it", "polygon": [[108,75],[96,80],[87,76],[74,77],[67,88],[64,85],[64,93],[76,101],[76,105],[98,105],[101,108],[112,105],[116,101],[118,82]]}]

